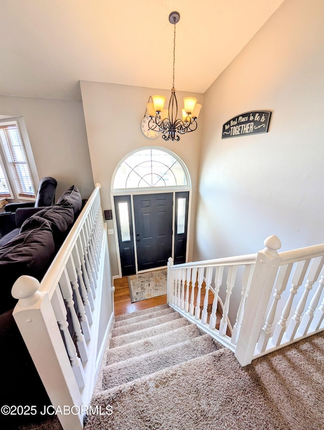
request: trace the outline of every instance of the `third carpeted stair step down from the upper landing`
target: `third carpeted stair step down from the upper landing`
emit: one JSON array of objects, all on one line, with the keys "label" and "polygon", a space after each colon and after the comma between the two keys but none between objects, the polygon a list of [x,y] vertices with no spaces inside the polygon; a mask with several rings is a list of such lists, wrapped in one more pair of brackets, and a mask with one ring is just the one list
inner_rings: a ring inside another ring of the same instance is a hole
[{"label": "third carpeted stair step down from the upper landing", "polygon": [[142,330],[138,330],[132,333],[121,334],[120,336],[112,337],[110,339],[110,348],[120,347],[120,345],[132,343],[136,340],[145,339],[156,334],[165,333],[166,331],[170,331],[175,328],[183,327],[184,325],[189,324],[191,323],[186,318],[180,317],[176,320],[156,325],[154,327],[143,328]]}]

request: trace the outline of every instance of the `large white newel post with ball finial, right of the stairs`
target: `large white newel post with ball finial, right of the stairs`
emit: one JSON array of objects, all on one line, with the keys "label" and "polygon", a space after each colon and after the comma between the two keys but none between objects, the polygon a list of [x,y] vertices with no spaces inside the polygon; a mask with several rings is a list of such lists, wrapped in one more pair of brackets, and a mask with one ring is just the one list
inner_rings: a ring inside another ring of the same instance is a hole
[{"label": "large white newel post with ball finial, right of the stairs", "polygon": [[257,254],[251,287],[237,340],[235,357],[241,366],[246,366],[252,362],[281,261],[277,252],[277,249],[281,247],[281,242],[277,236],[267,237],[264,245],[265,248]]}]

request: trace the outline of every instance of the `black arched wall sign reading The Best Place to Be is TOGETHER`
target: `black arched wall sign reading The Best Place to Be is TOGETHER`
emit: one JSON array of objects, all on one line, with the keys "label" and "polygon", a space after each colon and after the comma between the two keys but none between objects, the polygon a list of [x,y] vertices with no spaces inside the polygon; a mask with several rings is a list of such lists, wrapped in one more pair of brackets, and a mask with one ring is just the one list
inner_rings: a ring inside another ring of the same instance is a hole
[{"label": "black arched wall sign reading The Best Place to Be is TOGETHER", "polygon": [[234,116],[223,125],[222,139],[267,133],[270,116],[269,110],[254,110]]}]

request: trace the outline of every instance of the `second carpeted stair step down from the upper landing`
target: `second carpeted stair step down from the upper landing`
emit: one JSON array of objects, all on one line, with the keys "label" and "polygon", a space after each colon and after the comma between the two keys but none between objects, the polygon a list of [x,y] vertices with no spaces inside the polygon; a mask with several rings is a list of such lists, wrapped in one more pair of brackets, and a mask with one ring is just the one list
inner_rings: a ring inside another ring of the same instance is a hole
[{"label": "second carpeted stair step down from the upper landing", "polygon": [[107,352],[107,364],[117,363],[138,355],[165,348],[176,343],[184,342],[204,334],[195,324],[185,325],[162,334],[127,343],[120,347],[112,348]]}]

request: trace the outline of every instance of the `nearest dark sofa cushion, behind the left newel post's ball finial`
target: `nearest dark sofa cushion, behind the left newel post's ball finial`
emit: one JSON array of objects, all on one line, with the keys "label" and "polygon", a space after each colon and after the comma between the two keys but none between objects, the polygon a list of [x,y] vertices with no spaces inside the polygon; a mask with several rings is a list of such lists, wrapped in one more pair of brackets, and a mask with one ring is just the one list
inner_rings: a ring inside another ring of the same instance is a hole
[{"label": "nearest dark sofa cushion, behind the left newel post's ball finial", "polygon": [[11,295],[15,281],[21,275],[34,276],[40,281],[54,255],[51,225],[44,219],[34,220],[30,229],[18,234],[0,248],[0,314],[12,309],[17,303]]}]

